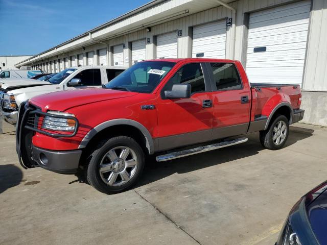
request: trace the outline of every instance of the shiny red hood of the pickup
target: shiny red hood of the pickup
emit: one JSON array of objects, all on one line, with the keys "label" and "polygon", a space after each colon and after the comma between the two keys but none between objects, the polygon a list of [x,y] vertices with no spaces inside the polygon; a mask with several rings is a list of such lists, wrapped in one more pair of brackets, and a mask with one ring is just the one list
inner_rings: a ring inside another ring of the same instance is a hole
[{"label": "shiny red hood of the pickup", "polygon": [[72,107],[134,96],[138,93],[105,88],[80,88],[35,96],[30,103],[42,109],[65,111]]}]

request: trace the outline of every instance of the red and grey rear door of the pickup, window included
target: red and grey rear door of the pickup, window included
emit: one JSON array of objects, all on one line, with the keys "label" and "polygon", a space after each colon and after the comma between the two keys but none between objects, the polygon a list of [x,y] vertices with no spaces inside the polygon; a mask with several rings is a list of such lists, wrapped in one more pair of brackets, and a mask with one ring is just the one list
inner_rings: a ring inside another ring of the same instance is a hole
[{"label": "red and grey rear door of the pickup, window included", "polygon": [[250,121],[251,95],[234,63],[206,63],[213,87],[213,138],[245,134]]}]

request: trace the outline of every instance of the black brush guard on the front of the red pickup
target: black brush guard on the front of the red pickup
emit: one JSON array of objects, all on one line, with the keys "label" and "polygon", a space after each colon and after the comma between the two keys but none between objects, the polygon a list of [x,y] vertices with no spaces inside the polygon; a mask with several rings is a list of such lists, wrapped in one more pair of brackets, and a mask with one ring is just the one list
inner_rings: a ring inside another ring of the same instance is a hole
[{"label": "black brush guard on the front of the red pickup", "polygon": [[[71,134],[50,133],[39,129],[39,117],[51,116],[55,118],[66,118],[75,121],[76,126]],[[16,125],[16,152],[18,154],[19,163],[25,169],[37,167],[38,164],[32,157],[32,137],[34,132],[44,134],[55,138],[70,138],[77,134],[79,122],[73,116],[55,115],[42,112],[40,109],[29,105],[27,102],[21,103],[18,109],[17,125]]]}]

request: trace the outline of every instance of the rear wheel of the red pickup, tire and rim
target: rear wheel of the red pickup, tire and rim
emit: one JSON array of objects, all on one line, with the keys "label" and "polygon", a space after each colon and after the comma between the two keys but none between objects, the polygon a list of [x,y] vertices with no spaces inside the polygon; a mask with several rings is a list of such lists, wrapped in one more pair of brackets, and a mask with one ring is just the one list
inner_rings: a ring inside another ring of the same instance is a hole
[{"label": "rear wheel of the red pickup, tire and rim", "polygon": [[278,150],[283,148],[289,134],[289,121],[286,116],[279,115],[265,131],[260,131],[260,142],[264,148]]}]

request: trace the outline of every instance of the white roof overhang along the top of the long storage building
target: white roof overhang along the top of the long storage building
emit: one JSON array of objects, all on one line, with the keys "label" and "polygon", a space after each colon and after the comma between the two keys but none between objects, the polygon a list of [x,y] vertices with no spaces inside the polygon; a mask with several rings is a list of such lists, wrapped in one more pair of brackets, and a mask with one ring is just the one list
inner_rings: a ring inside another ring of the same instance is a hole
[{"label": "white roof overhang along the top of the long storage building", "polygon": [[46,61],[50,57],[96,44],[99,41],[101,42],[130,32],[144,30],[147,27],[156,26],[159,23],[181,18],[219,5],[216,0],[154,0],[49,50],[21,61],[15,66],[19,67],[31,65],[43,60]]}]

